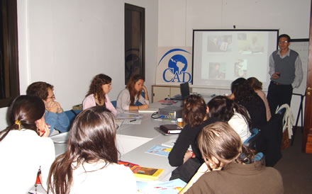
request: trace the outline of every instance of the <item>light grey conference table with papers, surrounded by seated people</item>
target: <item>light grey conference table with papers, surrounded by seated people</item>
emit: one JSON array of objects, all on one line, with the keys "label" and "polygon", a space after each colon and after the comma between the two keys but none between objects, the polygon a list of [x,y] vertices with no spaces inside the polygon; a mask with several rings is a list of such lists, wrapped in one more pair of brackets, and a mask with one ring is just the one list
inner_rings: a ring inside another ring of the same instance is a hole
[{"label": "light grey conference table with papers, surrounded by seated people", "polygon": [[[172,105],[181,106],[181,104],[182,102],[178,101]],[[116,132],[116,144],[120,152],[118,158],[121,161],[128,161],[143,167],[164,169],[165,171],[158,181],[169,181],[171,172],[176,168],[169,165],[167,156],[146,153],[147,150],[153,146],[162,145],[172,140],[174,141],[178,137],[178,135],[162,135],[155,130],[155,127],[160,127],[160,125],[176,124],[174,120],[151,118],[152,110],[165,106],[167,105],[162,105],[158,102],[150,104],[150,110],[140,111],[140,115],[143,115],[143,118],[140,120],[139,125],[126,124],[126,122],[123,121]],[[138,110],[131,110],[130,113],[138,113]],[[51,137],[55,143],[56,156],[64,153],[67,149],[68,135],[69,132],[65,132]]]}]

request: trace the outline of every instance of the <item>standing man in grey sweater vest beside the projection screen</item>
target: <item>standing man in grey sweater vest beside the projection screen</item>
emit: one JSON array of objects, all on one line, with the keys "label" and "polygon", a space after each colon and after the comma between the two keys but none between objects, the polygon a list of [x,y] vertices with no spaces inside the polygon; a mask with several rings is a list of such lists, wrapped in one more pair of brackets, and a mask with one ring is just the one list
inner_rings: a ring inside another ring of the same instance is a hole
[{"label": "standing man in grey sweater vest beside the projection screen", "polygon": [[267,92],[267,101],[272,115],[277,106],[287,103],[290,106],[294,88],[298,88],[303,78],[299,54],[289,49],[289,35],[279,35],[279,50],[269,57],[269,75],[271,82]]}]

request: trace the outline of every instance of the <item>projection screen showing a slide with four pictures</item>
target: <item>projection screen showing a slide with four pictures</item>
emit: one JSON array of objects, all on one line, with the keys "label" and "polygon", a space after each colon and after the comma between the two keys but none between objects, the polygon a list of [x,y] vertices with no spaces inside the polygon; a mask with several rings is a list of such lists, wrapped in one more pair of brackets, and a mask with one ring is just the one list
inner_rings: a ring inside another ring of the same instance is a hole
[{"label": "projection screen showing a slide with four pictures", "polygon": [[278,30],[194,30],[193,84],[230,86],[255,76],[269,84],[269,55]]}]

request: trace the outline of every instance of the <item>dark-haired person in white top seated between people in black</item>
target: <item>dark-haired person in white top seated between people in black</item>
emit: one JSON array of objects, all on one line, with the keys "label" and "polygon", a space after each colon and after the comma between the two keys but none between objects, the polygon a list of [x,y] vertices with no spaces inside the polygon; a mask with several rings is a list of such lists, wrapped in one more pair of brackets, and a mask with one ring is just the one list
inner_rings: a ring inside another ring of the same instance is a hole
[{"label": "dark-haired person in white top seated between people in black", "polygon": [[251,135],[251,121],[248,111],[242,105],[225,96],[216,96],[208,102],[209,117],[228,122],[238,133],[242,142]]}]

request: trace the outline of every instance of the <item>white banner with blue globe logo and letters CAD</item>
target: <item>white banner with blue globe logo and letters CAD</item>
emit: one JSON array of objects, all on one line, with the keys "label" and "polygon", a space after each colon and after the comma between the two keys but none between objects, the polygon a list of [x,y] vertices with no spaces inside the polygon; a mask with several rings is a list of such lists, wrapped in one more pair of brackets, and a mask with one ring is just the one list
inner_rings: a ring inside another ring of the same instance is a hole
[{"label": "white banner with blue globe logo and letters CAD", "polygon": [[191,83],[191,47],[158,47],[156,84]]}]

